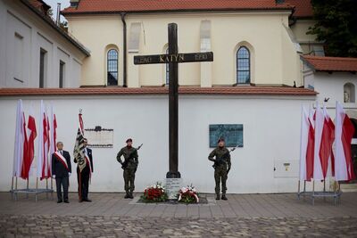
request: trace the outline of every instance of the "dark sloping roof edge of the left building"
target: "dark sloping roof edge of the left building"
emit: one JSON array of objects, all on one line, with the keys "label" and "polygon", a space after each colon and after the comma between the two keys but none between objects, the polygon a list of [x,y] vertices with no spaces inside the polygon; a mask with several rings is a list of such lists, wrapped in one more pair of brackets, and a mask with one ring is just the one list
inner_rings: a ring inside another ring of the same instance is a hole
[{"label": "dark sloping roof edge of the left building", "polygon": [[35,12],[37,16],[39,16],[43,21],[45,21],[51,28],[55,29],[58,33],[60,33],[62,37],[65,37],[68,41],[70,41],[71,44],[78,48],[82,53],[84,53],[86,56],[90,55],[89,50],[84,45],[80,44],[78,40],[74,39],[74,37],[71,37],[67,32],[58,27],[54,23],[54,21],[47,19],[41,12],[38,12],[37,9],[33,5],[29,4],[28,1],[21,0],[21,3],[26,5],[32,12]]}]

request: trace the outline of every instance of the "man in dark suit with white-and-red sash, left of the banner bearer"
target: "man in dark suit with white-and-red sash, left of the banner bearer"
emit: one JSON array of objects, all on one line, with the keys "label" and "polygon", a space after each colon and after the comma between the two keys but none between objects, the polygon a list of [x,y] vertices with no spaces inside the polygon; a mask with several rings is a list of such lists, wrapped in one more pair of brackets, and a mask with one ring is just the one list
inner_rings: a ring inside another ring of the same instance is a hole
[{"label": "man in dark suit with white-and-red sash, left of the banner bearer", "polygon": [[[56,144],[57,152],[52,154],[52,175],[56,180],[57,187],[57,203],[64,201],[70,203],[68,200],[68,186],[70,185],[69,176],[71,176],[71,155],[69,152],[63,151],[62,142]],[[63,198],[62,198],[63,186]]]}]

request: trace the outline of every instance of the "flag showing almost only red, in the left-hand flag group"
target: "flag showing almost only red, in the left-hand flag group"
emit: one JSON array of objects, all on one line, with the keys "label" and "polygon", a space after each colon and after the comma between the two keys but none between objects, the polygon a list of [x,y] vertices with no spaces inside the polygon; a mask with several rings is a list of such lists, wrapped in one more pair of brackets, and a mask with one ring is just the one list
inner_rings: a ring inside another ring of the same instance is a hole
[{"label": "flag showing almost only red, in the left-hand flag group", "polygon": [[29,114],[29,120],[28,120],[28,152],[26,159],[23,160],[22,163],[22,175],[21,177],[24,179],[29,178],[29,169],[31,168],[32,161],[35,156],[35,139],[37,136],[37,131],[36,131],[36,121],[35,121],[35,116],[33,115],[32,111]]}]

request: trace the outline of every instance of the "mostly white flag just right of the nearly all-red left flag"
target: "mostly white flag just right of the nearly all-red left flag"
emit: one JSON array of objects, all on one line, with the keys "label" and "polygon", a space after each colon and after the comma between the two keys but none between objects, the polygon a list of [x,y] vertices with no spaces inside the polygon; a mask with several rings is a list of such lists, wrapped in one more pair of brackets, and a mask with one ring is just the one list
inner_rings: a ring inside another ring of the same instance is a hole
[{"label": "mostly white flag just right of the nearly all-red left flag", "polygon": [[46,115],[44,102],[41,100],[37,158],[37,177],[39,177],[41,180],[51,176],[50,163],[48,158],[49,145],[49,122]]}]

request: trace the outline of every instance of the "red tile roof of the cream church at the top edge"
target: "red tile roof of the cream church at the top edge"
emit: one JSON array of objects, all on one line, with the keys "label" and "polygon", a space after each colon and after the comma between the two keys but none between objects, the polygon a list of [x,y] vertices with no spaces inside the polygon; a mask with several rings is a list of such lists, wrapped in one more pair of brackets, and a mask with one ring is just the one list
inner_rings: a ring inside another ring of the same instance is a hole
[{"label": "red tile roof of the cream church at the top edge", "polygon": [[278,9],[292,10],[293,6],[275,0],[80,0],[77,7],[65,8],[62,13]]}]

